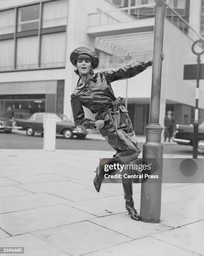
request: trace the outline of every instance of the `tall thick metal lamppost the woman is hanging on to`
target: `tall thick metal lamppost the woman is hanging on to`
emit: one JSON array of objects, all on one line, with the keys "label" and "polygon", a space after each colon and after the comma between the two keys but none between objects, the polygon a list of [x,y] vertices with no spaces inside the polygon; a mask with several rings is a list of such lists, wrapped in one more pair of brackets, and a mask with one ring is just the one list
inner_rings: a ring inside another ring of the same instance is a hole
[{"label": "tall thick metal lamppost the woman is hanging on to", "polygon": [[[143,160],[156,159],[159,169],[157,183],[148,179],[141,186],[140,218],[144,222],[159,222],[161,213],[161,181],[163,165],[163,145],[161,144],[162,127],[159,124],[161,94],[161,53],[163,49],[165,0],[156,0],[154,25],[154,51],[151,85],[150,119],[146,128],[146,142],[143,146]],[[151,167],[152,172],[154,166]]]}]

